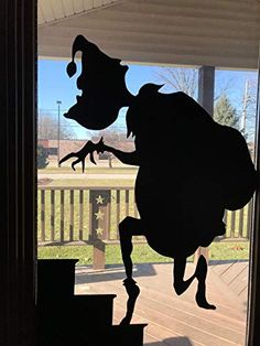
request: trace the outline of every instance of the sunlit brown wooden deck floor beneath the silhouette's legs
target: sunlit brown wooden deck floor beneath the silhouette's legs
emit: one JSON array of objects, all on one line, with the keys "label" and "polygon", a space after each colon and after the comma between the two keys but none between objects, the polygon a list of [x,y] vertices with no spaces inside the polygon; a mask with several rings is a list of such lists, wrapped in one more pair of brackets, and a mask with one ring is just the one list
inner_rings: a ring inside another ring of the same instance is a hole
[{"label": "sunlit brown wooden deck floor beneath the silhouette's legs", "polygon": [[[205,311],[194,302],[196,282],[177,296],[172,289],[172,264],[148,263],[134,266],[134,278],[141,289],[132,323],[148,323],[145,346],[231,346],[245,345],[247,302],[238,296],[219,277],[220,263],[209,266],[208,301],[217,306]],[[188,263],[187,275],[194,271]],[[122,286],[124,271],[110,266],[106,271],[87,267],[76,269],[76,294],[115,293],[113,324],[126,311],[127,294]],[[134,345],[133,345],[134,346]]]}]

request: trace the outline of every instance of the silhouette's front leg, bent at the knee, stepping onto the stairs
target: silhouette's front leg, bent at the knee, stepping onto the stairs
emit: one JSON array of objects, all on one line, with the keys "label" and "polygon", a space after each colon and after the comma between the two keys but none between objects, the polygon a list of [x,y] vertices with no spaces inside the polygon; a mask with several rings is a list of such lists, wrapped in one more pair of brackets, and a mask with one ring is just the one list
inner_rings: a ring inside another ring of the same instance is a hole
[{"label": "silhouette's front leg, bent at the knee, stepping onto the stairs", "polygon": [[132,236],[142,236],[142,221],[133,217],[126,217],[119,224],[120,246],[122,253],[122,261],[126,269],[127,279],[123,280],[128,293],[127,313],[120,324],[129,324],[132,318],[134,304],[140,293],[140,289],[132,279]]}]

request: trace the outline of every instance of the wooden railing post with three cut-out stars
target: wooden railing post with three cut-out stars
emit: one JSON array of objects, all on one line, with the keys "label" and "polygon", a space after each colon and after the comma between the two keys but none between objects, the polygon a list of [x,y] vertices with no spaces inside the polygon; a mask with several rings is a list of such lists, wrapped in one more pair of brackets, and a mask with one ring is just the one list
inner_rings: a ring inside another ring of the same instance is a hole
[{"label": "wooden railing post with three cut-out stars", "polygon": [[93,248],[93,269],[105,269],[105,249],[104,240],[108,239],[110,227],[110,190],[91,190],[89,193],[90,199],[90,219],[91,228],[89,240]]}]

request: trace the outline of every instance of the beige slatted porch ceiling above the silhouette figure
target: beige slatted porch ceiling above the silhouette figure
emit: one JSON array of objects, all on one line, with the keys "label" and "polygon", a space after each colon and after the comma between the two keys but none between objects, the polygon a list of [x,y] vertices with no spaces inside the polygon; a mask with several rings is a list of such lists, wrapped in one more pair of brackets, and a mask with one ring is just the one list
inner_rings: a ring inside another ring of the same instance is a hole
[{"label": "beige slatted porch ceiling above the silhouette figure", "polygon": [[127,62],[257,68],[259,0],[39,0],[39,54],[83,34]]}]

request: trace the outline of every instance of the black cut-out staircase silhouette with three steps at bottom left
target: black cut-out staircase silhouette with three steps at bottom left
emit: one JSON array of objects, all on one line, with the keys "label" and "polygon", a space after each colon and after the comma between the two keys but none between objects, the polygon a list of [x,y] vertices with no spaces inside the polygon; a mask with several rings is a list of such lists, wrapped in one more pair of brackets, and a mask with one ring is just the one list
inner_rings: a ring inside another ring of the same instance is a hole
[{"label": "black cut-out staircase silhouette with three steps at bottom left", "polygon": [[147,324],[111,325],[116,294],[74,295],[76,262],[37,262],[37,346],[142,346]]}]

